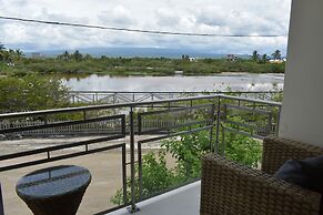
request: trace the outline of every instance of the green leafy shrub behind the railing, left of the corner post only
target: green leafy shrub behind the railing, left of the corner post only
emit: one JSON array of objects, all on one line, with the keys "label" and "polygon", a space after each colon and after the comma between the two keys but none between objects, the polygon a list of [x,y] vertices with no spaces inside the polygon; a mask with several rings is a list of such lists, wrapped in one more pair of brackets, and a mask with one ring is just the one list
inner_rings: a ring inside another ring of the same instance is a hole
[{"label": "green leafy shrub behind the railing, left of the corner post only", "polygon": [[[142,158],[142,196],[147,197],[170,187],[198,178],[201,175],[201,156],[210,151],[210,133],[188,134],[162,142],[165,151],[150,152]],[[175,167],[168,167],[165,154],[171,153],[176,161]],[[138,174],[138,166],[135,168]],[[128,178],[128,198],[131,181]],[[135,196],[139,198],[139,184],[135,184]],[[118,190],[110,199],[113,204],[123,204],[122,190]]]}]

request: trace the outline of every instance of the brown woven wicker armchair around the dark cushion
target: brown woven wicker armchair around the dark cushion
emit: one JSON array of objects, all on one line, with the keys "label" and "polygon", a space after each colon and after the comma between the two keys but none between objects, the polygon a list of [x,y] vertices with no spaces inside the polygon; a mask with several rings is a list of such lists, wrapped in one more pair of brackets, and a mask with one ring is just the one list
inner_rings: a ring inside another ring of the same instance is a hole
[{"label": "brown woven wicker armchair around the dark cushion", "polygon": [[201,215],[317,215],[319,193],[271,175],[290,158],[306,158],[323,150],[281,137],[263,141],[262,171],[219,155],[202,160]]}]

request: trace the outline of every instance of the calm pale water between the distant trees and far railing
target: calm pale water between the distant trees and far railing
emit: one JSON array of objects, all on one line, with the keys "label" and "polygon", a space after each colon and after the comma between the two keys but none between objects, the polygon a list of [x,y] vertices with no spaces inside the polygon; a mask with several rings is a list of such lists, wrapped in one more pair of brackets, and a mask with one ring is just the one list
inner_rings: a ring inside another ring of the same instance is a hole
[{"label": "calm pale water between the distant trees and far railing", "polygon": [[64,79],[75,91],[269,91],[282,90],[284,74],[222,73],[212,76],[110,76]]}]

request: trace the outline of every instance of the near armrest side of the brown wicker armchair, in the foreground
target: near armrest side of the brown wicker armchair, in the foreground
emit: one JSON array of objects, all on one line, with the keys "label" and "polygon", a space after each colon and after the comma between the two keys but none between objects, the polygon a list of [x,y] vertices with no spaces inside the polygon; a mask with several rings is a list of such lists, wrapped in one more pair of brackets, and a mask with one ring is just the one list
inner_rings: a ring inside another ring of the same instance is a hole
[{"label": "near armrest side of the brown wicker armchair, in the foreground", "polygon": [[218,155],[202,158],[201,215],[317,215],[319,193]]}]

